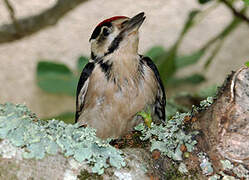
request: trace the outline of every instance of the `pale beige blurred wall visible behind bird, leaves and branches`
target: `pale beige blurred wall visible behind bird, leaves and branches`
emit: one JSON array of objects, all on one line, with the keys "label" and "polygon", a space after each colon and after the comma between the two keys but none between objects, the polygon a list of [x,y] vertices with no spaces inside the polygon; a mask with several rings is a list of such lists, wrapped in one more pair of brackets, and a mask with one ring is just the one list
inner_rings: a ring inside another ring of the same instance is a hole
[{"label": "pale beige blurred wall visible behind bird, leaves and branches", "polygon": [[[11,0],[17,17],[37,14],[55,0]],[[67,14],[59,23],[30,37],[0,44],[0,103],[25,103],[38,116],[52,116],[74,110],[74,98],[51,95],[36,85],[36,65],[41,59],[58,60],[75,68],[81,54],[89,55],[88,39],[101,20],[115,15],[133,16],[144,11],[147,19],[140,30],[140,53],[153,45],[169,48],[181,30],[189,11],[198,8],[197,0],[90,0]],[[216,35],[231,20],[230,11],[220,5],[196,28],[189,32],[180,48],[181,53],[191,53]],[[9,14],[0,1],[0,24],[9,22]],[[240,25],[204,72],[208,81],[199,88],[221,83],[231,70],[236,70],[249,60],[249,28]],[[184,69],[201,72],[203,62]],[[191,89],[191,87],[184,87]],[[180,90],[184,90],[183,88]]]}]

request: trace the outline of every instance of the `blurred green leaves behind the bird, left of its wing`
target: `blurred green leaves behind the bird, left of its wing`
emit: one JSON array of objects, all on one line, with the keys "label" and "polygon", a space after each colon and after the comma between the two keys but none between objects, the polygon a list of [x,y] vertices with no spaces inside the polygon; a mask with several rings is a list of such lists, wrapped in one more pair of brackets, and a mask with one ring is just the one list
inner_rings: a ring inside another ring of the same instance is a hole
[{"label": "blurred green leaves behind the bird, left of its wing", "polygon": [[[88,58],[80,56],[77,59],[76,69],[71,70],[66,64],[57,61],[42,60],[37,64],[37,85],[44,91],[54,94],[76,96],[79,76]],[[74,123],[74,112],[63,112],[56,117],[47,117],[44,120],[60,119],[65,123]]]}]

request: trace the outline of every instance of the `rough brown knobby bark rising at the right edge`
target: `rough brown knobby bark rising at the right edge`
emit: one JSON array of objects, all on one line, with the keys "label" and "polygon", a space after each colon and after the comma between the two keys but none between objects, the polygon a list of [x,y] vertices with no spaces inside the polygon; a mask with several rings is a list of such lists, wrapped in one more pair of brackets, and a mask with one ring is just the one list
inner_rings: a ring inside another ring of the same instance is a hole
[{"label": "rough brown knobby bark rising at the right edge", "polygon": [[203,132],[199,148],[209,154],[218,171],[219,160],[249,165],[249,68],[232,73],[209,109],[197,115]]}]

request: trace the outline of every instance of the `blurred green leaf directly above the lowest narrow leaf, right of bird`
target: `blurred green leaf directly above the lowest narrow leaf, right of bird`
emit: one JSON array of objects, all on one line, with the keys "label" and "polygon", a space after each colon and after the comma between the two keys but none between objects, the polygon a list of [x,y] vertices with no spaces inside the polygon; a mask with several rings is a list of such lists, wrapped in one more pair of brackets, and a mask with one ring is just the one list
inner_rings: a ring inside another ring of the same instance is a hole
[{"label": "blurred green leaf directly above the lowest narrow leaf, right of bird", "polygon": [[183,68],[185,66],[189,66],[197,63],[201,57],[204,55],[204,50],[196,51],[190,55],[180,56],[176,58],[176,68]]}]

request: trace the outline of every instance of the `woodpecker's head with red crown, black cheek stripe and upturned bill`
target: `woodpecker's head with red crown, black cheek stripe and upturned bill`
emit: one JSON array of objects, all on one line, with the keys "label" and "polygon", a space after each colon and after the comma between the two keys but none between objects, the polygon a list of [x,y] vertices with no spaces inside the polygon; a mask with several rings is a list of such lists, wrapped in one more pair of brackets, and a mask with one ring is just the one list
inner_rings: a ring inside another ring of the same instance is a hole
[{"label": "woodpecker's head with red crown, black cheek stripe and upturned bill", "polygon": [[99,23],[90,38],[92,59],[118,50],[137,53],[138,29],[144,19],[142,12],[132,18],[115,16]]}]

